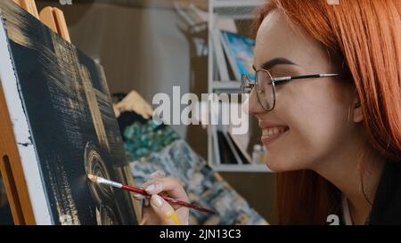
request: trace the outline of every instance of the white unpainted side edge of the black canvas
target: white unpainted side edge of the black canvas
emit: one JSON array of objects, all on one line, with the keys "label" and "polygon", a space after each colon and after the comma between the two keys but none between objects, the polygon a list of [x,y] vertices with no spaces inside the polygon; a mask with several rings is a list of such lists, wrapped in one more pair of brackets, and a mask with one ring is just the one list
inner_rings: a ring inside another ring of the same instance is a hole
[{"label": "white unpainted side edge of the black canvas", "polygon": [[45,185],[37,159],[37,151],[31,140],[28,117],[20,98],[18,80],[12,64],[3,15],[0,12],[0,77],[4,98],[9,109],[13,133],[18,144],[20,161],[27,182],[35,221],[39,225],[52,224],[49,202],[45,195]]}]

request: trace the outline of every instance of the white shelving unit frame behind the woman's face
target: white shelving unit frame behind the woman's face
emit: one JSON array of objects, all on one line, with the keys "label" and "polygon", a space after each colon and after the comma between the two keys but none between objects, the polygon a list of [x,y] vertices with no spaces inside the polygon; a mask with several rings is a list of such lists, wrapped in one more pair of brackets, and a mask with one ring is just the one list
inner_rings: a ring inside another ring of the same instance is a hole
[{"label": "white shelving unit frame behind the woman's face", "polygon": [[[239,93],[240,80],[215,80],[217,69],[214,57],[213,31],[216,17],[232,18],[233,20],[251,20],[256,7],[264,4],[265,0],[209,0],[209,93]],[[218,150],[217,138],[214,138],[213,126],[208,129],[208,161],[209,165],[219,172],[270,172],[265,165],[243,164],[218,164],[216,150]]]}]

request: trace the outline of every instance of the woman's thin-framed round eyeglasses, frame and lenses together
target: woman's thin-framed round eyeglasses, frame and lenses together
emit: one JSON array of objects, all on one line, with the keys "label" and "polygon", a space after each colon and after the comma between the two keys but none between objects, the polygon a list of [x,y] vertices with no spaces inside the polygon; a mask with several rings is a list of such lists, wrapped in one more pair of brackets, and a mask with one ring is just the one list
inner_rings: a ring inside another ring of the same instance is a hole
[{"label": "woman's thin-framed round eyeglasses, frame and lenses together", "polygon": [[243,74],[241,77],[241,92],[250,93],[256,86],[256,93],[260,105],[266,111],[272,111],[275,106],[275,85],[289,82],[297,79],[318,78],[318,77],[335,77],[339,74],[314,74],[293,77],[272,77],[269,71],[260,69],[255,74],[255,81],[251,81],[248,75]]}]

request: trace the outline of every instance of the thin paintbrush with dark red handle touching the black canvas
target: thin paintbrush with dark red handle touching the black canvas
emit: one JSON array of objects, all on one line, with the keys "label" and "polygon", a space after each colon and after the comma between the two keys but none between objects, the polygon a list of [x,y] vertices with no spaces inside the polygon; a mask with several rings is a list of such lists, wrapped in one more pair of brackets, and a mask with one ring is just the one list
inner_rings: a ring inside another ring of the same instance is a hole
[{"label": "thin paintbrush with dark red handle touching the black canvas", "polygon": [[[110,185],[110,186],[115,187],[115,188],[119,188],[119,189],[122,189],[122,190],[129,190],[129,191],[133,191],[135,193],[142,194],[143,196],[146,196],[146,197],[151,197],[151,195],[149,195],[145,190],[142,190],[142,189],[139,189],[139,188],[135,188],[133,186],[124,185],[124,184],[121,184],[119,182],[113,182],[113,181],[107,180],[105,178],[102,178],[100,176],[96,176],[94,174],[88,174],[87,178],[89,178],[89,180],[91,180],[92,182],[95,182],[95,183],[98,183],[98,184]],[[204,213],[208,213],[210,215],[214,215],[215,214],[214,211],[212,211],[212,210],[210,210],[208,208],[205,208],[205,207],[199,207],[197,205],[193,205],[193,204],[190,204],[190,203],[187,203],[187,202],[184,202],[184,201],[180,201],[180,200],[177,200],[175,198],[169,198],[169,197],[166,197],[166,196],[160,196],[160,197],[165,199],[166,201],[168,201],[170,203],[174,203],[174,204],[181,205],[181,206],[184,206],[184,207],[189,207],[189,208],[192,208],[192,209],[196,209],[198,211],[201,211],[201,212],[204,212]]]}]

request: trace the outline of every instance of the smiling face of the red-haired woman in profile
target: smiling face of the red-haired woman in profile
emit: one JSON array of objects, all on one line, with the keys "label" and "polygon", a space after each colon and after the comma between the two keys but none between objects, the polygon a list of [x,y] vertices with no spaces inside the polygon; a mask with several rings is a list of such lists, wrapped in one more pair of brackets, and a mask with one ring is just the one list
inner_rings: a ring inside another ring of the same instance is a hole
[{"label": "smiling face of the red-haired woman in profile", "polygon": [[[273,77],[340,73],[340,65],[334,62],[322,45],[277,10],[266,16],[258,30],[254,66],[269,70]],[[262,108],[255,89],[249,100],[250,114],[262,129],[270,169],[314,169],[335,158],[344,141],[356,134],[354,109],[350,109],[355,88],[339,77],[291,81],[276,85],[275,92],[273,111]]]}]

